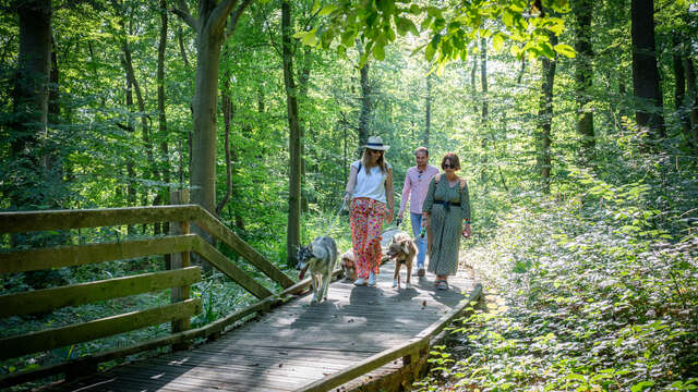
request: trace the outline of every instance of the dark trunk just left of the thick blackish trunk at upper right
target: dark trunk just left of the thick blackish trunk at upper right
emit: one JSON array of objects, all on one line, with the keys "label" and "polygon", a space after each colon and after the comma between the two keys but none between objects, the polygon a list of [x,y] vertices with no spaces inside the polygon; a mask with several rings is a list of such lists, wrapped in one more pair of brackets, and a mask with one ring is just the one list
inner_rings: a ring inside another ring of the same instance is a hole
[{"label": "dark trunk just left of the thick blackish trunk at upper right", "polygon": [[577,52],[575,82],[577,94],[577,133],[581,137],[580,162],[587,166],[593,160],[595,136],[593,131],[593,112],[587,105],[591,101],[593,81],[593,49],[591,47],[591,0],[573,0],[575,14],[575,51]]}]

